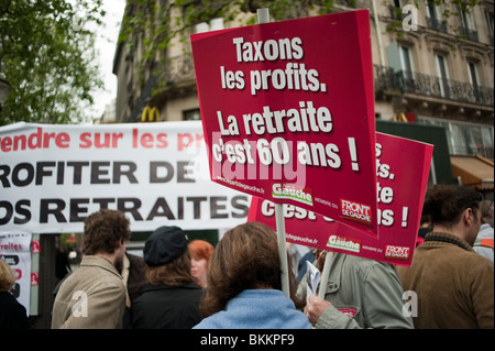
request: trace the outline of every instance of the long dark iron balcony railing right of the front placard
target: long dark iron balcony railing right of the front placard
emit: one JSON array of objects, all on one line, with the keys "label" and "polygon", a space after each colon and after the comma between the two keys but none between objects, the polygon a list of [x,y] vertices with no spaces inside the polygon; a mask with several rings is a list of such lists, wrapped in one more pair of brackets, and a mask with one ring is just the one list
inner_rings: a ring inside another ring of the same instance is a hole
[{"label": "long dark iron balcony railing right of the front placard", "polygon": [[374,84],[376,91],[400,90],[441,99],[476,103],[494,105],[494,89],[473,86],[469,83],[443,79],[417,72],[394,72],[389,67],[374,65]]}]

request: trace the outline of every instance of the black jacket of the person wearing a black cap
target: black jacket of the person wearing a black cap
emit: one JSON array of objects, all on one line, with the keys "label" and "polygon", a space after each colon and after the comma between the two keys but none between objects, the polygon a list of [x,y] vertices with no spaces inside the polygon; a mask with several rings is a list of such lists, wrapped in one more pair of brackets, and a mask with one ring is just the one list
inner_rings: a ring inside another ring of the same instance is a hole
[{"label": "black jacket of the person wearing a black cap", "polygon": [[167,286],[144,284],[131,305],[134,329],[190,329],[200,320],[202,289],[194,284]]}]

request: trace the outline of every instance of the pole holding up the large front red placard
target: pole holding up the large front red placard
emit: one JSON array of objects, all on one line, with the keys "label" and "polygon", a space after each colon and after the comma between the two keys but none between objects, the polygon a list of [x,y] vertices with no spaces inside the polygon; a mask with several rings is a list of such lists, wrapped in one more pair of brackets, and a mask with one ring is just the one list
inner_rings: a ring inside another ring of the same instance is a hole
[{"label": "pole holding up the large front red placard", "polygon": [[[270,23],[270,10],[257,9],[257,23]],[[282,290],[285,296],[290,297],[290,287],[288,278],[288,263],[287,263],[287,244],[285,239],[285,219],[284,208],[280,204],[275,204],[275,218],[277,224],[277,242],[278,242],[278,255],[280,256],[280,281]]]}]

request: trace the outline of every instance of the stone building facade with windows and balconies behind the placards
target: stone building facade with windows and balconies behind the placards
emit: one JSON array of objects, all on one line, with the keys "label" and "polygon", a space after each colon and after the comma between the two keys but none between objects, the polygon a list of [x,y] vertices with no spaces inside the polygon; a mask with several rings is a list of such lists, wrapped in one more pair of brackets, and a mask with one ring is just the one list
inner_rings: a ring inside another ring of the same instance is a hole
[{"label": "stone building facade with windows and balconies behind the placards", "polygon": [[[481,154],[493,161],[494,1],[482,0],[469,13],[448,18],[446,10],[459,10],[449,1],[442,6],[419,1],[418,8],[408,6],[413,2],[336,1],[333,8],[336,12],[370,10],[376,119],[443,127],[451,155]],[[132,13],[127,9],[125,15]],[[213,19],[194,31],[238,23]],[[393,24],[396,30],[387,31]],[[136,33],[132,50],[128,44],[120,43],[114,56],[116,121],[139,122],[146,106],[158,110],[155,120],[200,119],[188,35],[175,39],[144,68],[143,36]]]}]

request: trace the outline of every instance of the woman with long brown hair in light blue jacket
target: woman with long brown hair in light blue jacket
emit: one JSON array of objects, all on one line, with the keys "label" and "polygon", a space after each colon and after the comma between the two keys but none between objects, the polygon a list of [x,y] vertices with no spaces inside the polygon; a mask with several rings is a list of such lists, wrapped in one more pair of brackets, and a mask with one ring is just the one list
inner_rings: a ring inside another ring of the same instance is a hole
[{"label": "woman with long brown hair in light blue jacket", "polygon": [[208,266],[206,317],[195,329],[310,329],[304,307],[282,292],[280,260],[275,232],[248,222],[229,230],[217,244]]}]

